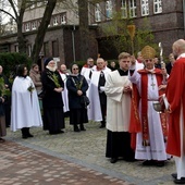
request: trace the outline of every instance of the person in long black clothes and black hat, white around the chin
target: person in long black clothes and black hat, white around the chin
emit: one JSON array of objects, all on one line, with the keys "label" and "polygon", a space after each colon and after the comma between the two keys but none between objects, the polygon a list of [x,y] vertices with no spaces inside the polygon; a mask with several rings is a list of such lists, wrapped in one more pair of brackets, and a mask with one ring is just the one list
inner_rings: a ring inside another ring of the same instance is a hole
[{"label": "person in long black clothes and black hat, white around the chin", "polygon": [[44,87],[44,130],[48,130],[49,134],[63,133],[64,113],[63,100],[61,91],[64,88],[64,83],[57,71],[55,62],[52,58],[48,58],[45,62],[46,69],[41,74]]}]

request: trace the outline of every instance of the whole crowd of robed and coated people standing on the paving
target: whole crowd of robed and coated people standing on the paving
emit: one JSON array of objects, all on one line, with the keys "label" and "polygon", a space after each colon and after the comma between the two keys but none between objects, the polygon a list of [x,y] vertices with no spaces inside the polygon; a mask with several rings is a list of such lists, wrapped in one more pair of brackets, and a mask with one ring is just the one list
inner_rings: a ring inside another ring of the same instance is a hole
[{"label": "whole crowd of robed and coated people standing on the paving", "polygon": [[[99,57],[96,63],[88,58],[81,71],[76,63],[70,71],[65,64],[58,69],[48,58],[41,73],[38,64],[29,72],[18,65],[12,85],[0,66],[0,143],[9,125],[26,139],[34,137],[33,126],[50,135],[64,133],[65,116],[74,132],[86,131],[88,121],[100,122],[99,127],[107,128],[106,157],[111,163],[143,160],[144,166],[161,168],[174,157],[174,183],[185,184],[185,40],[176,40],[166,65],[146,46],[137,59],[120,53],[118,67]],[[11,91],[11,104],[4,89]],[[161,104],[160,113],[155,102]]]}]

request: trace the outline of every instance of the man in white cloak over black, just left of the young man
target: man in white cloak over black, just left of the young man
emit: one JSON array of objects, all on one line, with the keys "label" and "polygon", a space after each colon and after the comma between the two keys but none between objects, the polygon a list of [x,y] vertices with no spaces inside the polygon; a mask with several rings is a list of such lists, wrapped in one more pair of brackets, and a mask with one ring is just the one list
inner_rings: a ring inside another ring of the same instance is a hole
[{"label": "man in white cloak over black, just left of the young man", "polygon": [[100,128],[106,127],[107,96],[104,94],[104,84],[109,72],[111,72],[111,70],[106,66],[104,60],[98,58],[97,66],[91,73],[91,81],[88,90],[88,97],[90,99],[88,119],[97,122],[100,121]]}]

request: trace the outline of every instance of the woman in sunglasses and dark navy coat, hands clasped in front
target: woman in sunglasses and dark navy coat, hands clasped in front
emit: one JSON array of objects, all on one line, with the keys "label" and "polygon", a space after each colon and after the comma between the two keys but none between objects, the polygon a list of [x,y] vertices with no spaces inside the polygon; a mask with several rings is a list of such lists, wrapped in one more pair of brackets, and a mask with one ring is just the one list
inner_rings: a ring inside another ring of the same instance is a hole
[{"label": "woman in sunglasses and dark navy coat, hands clasped in front", "polygon": [[[82,104],[83,96],[86,96],[88,84],[83,75],[79,74],[78,65],[73,64],[72,74],[66,79],[69,90],[70,124],[74,125],[74,132],[86,131],[84,123],[88,122],[87,108]],[[79,125],[79,127],[78,127]]]}]

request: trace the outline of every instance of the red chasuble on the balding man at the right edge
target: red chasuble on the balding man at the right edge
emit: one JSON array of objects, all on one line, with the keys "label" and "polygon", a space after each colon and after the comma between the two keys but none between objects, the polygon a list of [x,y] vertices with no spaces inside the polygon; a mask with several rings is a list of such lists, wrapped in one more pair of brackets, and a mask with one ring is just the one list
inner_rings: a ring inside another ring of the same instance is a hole
[{"label": "red chasuble on the balding man at the right edge", "polygon": [[185,58],[180,58],[174,63],[168,79],[165,96],[171,110],[166,152],[181,157],[180,113],[183,109],[185,124]]}]

